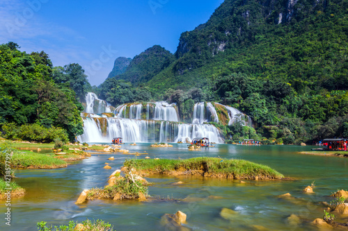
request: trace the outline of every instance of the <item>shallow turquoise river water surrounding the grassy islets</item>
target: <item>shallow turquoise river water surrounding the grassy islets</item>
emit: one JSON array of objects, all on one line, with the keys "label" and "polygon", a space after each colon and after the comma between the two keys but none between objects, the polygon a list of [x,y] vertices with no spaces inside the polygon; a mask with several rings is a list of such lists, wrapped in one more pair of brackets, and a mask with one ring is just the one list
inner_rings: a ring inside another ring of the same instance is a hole
[{"label": "shallow turquoise river water surrounding the grassy islets", "polygon": [[[16,182],[26,189],[24,198],[13,198],[12,225],[0,223],[0,230],[37,230],[39,221],[52,225],[66,224],[70,220],[103,219],[116,230],[167,230],[161,225],[163,214],[178,210],[187,214],[187,228],[193,230],[252,230],[262,225],[267,230],[316,230],[310,225],[322,218],[321,201],[330,201],[332,191],[348,189],[348,158],[301,155],[310,146],[235,146],[216,144],[215,148],[189,151],[187,144],[173,144],[173,148],[150,148],[150,144],[123,145],[131,152],[146,151],[151,158],[191,158],[198,156],[244,159],[266,164],[292,181],[246,181],[200,177],[156,177],[149,194],[156,198],[180,200],[137,201],[94,200],[86,205],[74,205],[84,189],[103,187],[110,174],[122,166],[126,158],[134,155],[120,153],[96,154],[75,162],[65,169],[17,170]],[[115,160],[107,158],[114,156]],[[146,155],[138,156],[144,158]],[[111,170],[103,169],[109,162]],[[171,185],[182,181],[183,185]],[[315,181],[315,194],[303,194],[302,189]],[[293,199],[277,196],[289,192]],[[209,198],[219,196],[221,198]],[[228,208],[237,212],[228,219],[220,214]],[[1,211],[5,205],[1,203]],[[287,217],[301,217],[299,225],[287,223]],[[5,217],[5,215],[3,215]],[[4,220],[4,219],[3,219]],[[340,222],[347,222],[338,219]]]}]

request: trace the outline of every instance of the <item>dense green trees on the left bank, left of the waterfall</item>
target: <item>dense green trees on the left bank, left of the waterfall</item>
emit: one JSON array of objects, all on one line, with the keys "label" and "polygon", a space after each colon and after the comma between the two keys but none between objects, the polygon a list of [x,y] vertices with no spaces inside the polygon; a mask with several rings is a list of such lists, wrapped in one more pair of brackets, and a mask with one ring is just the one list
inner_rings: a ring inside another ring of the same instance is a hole
[{"label": "dense green trees on the left bank, left of the waterfall", "polygon": [[8,139],[73,141],[83,133],[79,99],[90,85],[80,65],[53,67],[44,51],[0,45],[0,128]]}]

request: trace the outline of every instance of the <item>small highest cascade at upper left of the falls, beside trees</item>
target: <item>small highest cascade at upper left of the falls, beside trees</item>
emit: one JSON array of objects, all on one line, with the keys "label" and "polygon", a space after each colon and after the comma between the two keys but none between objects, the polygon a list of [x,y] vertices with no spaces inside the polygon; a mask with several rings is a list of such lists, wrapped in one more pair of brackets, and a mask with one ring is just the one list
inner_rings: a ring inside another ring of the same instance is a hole
[{"label": "small highest cascade at upper left of the falls, beside trees", "polygon": [[88,92],[86,94],[86,108],[84,110],[86,113],[111,113],[111,105],[106,103],[101,99],[98,99],[98,96],[93,92]]}]

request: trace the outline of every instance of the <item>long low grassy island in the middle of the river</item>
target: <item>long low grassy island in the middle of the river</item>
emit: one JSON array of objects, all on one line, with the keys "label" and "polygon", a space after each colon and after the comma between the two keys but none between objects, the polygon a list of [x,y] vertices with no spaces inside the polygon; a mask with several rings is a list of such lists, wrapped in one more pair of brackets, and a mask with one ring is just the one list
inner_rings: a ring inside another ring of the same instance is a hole
[{"label": "long low grassy island in the middle of the river", "polygon": [[196,175],[212,178],[280,180],[284,176],[269,166],[246,160],[225,160],[196,157],[187,160],[126,160],[127,169],[136,169],[144,176],[151,174]]}]

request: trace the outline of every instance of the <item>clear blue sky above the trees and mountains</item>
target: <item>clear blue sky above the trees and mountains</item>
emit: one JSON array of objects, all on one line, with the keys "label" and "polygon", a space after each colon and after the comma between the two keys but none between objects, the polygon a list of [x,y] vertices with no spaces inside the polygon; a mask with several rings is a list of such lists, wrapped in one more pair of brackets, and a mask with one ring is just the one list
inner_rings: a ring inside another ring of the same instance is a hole
[{"label": "clear blue sky above the trees and mountains", "polygon": [[180,34],[207,22],[223,0],[1,0],[0,43],[45,51],[54,66],[77,62],[92,85],[120,56],[159,44],[175,52]]}]

